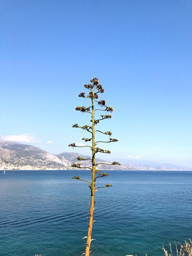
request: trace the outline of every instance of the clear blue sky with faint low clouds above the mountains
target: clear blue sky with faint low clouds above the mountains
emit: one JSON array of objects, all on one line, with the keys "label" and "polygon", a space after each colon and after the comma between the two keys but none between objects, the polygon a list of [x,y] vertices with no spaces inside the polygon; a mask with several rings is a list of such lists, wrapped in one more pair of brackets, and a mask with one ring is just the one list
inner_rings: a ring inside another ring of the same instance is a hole
[{"label": "clear blue sky with faint low clouds above the mountains", "polygon": [[100,157],[192,166],[191,0],[1,0],[0,35],[2,138],[72,151],[98,77],[119,139]]}]

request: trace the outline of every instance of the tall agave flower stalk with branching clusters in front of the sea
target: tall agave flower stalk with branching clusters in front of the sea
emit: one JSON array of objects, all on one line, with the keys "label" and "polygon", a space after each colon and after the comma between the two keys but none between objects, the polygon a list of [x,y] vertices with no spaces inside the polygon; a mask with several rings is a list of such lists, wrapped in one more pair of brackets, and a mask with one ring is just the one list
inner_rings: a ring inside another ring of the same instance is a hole
[{"label": "tall agave flower stalk with branching clusters in front of the sea", "polygon": [[[87,243],[86,243],[86,249],[85,249],[85,256],[89,256],[90,253],[90,245],[92,240],[92,227],[93,227],[93,222],[94,222],[94,198],[95,198],[95,191],[97,191],[100,188],[107,188],[109,186],[112,186],[111,184],[105,184],[105,186],[101,186],[101,187],[96,187],[96,180],[98,178],[101,177],[105,177],[108,176],[108,173],[102,173],[99,169],[98,166],[100,164],[111,164],[111,165],[120,165],[118,162],[112,162],[112,163],[96,163],[95,162],[95,155],[96,153],[100,152],[100,153],[104,153],[104,154],[110,154],[111,152],[109,150],[104,150],[102,148],[98,148],[97,144],[99,142],[102,143],[110,143],[110,142],[115,142],[118,141],[117,139],[112,139],[110,136],[112,135],[112,132],[102,132],[100,130],[95,130],[95,126],[100,122],[103,121],[104,119],[111,119],[112,115],[100,115],[100,118],[95,119],[95,112],[96,111],[106,111],[106,112],[113,112],[114,109],[110,106],[106,105],[106,101],[105,100],[98,100],[99,99],[99,94],[105,92],[105,90],[103,89],[102,85],[99,84],[99,81],[97,78],[94,78],[90,81],[92,84],[85,84],[84,87],[89,90],[89,93],[87,95],[85,95],[85,92],[81,92],[78,97],[83,97],[83,98],[89,98],[91,100],[91,106],[89,107],[85,107],[85,106],[78,106],[75,108],[75,110],[80,111],[82,113],[88,113],[91,115],[92,119],[92,125],[88,126],[79,126],[78,124],[74,124],[73,127],[75,128],[80,128],[83,130],[86,130],[87,132],[90,133],[90,138],[83,138],[84,141],[92,141],[92,146],[76,146],[75,143],[69,144],[69,146],[71,147],[78,147],[78,148],[82,148],[82,147],[89,147],[92,150],[92,158],[88,158],[85,159],[83,157],[77,157],[77,159],[79,161],[85,161],[85,160],[90,160],[90,162],[92,163],[92,168],[87,167],[87,166],[81,166],[81,163],[75,163],[72,164],[72,167],[76,167],[76,168],[88,168],[92,171],[92,180],[88,181],[88,180],[83,180],[85,182],[87,182],[89,184],[89,188],[91,190],[91,203],[89,204],[90,206],[90,213],[89,213],[89,225],[88,225],[88,232],[87,232],[87,236],[85,236],[84,238],[87,238]],[[95,109],[95,105],[98,105],[98,107]],[[95,134],[96,132],[100,132],[104,135],[109,135],[109,141],[96,141],[95,138]],[[72,179],[76,179],[76,180],[82,180],[79,176],[75,176]],[[83,254],[82,254],[83,255]]]}]

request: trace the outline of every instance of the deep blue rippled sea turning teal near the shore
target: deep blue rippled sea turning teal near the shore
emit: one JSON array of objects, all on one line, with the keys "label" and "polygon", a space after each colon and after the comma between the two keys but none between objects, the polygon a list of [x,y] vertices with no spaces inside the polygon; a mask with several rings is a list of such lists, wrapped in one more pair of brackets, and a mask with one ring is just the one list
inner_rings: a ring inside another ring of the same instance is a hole
[{"label": "deep blue rippled sea turning teal near the shore", "polygon": [[[164,255],[192,238],[191,171],[108,171],[96,192],[92,256]],[[0,256],[81,256],[90,171],[0,172]]]}]

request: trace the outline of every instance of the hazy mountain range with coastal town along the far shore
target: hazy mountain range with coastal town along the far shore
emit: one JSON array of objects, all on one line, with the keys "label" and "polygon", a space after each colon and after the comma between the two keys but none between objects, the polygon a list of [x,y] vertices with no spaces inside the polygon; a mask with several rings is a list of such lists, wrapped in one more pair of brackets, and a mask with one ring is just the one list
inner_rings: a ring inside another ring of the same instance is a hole
[{"label": "hazy mountain range with coastal town along the far shore", "polygon": [[[40,148],[20,144],[12,141],[0,141],[0,169],[72,169],[71,164],[80,162],[82,167],[91,167],[90,160],[78,161],[77,157],[92,158],[90,156],[80,155],[78,153],[63,152],[58,155],[48,153]],[[118,159],[114,159],[114,161]],[[118,161],[119,162],[119,161]],[[96,158],[96,163],[109,163],[106,160]],[[100,164],[98,168],[101,170],[192,170],[190,167],[177,166],[174,164],[156,164],[153,162],[121,163],[121,166]]]}]

